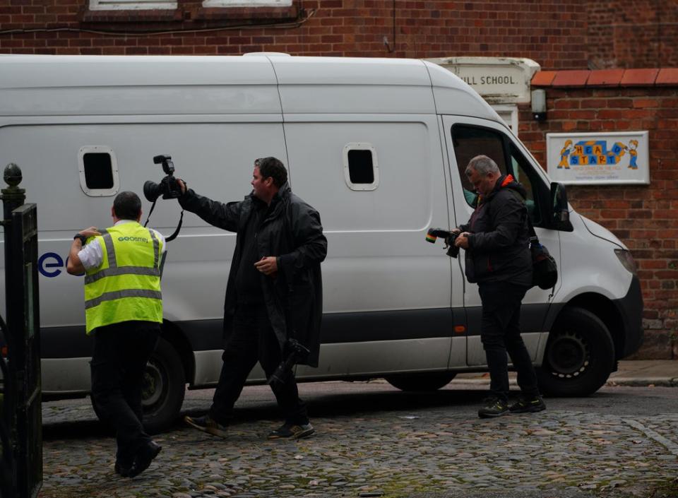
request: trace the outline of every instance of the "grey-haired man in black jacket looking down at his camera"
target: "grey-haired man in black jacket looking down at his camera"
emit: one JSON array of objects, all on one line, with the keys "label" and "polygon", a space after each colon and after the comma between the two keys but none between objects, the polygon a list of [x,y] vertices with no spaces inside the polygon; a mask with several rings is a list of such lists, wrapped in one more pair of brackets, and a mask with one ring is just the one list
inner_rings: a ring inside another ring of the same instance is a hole
[{"label": "grey-haired man in black jacket looking down at his camera", "polygon": [[[478,416],[538,412],[546,405],[537,387],[535,369],[521,338],[521,302],[532,287],[532,258],[525,188],[502,175],[496,162],[477,155],[465,174],[479,196],[475,211],[461,225],[454,244],[465,249],[465,272],[477,283],[482,301],[480,338],[487,357],[491,396]],[[506,352],[518,371],[521,398],[509,408]]]}]

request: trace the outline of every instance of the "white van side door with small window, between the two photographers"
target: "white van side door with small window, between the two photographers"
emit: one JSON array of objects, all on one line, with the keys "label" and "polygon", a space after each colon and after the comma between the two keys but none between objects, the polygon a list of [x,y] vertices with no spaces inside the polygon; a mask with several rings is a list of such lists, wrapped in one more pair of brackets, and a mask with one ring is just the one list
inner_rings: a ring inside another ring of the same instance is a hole
[{"label": "white van side door with small window, between the two photographers", "polygon": [[[319,211],[328,239],[320,367],[299,367],[297,377],[446,370],[450,305],[458,300],[463,320],[463,302],[441,241],[425,239],[431,225],[451,223],[437,118],[285,121],[292,191]],[[465,345],[456,354],[465,363]]]}]

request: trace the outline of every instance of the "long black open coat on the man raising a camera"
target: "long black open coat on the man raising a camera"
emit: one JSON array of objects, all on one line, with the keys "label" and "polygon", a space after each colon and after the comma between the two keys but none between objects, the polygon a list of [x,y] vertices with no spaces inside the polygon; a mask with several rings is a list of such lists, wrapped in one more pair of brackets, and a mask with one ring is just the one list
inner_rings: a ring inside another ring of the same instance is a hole
[{"label": "long black open coat on the man raising a camera", "polygon": [[[263,202],[249,194],[243,201],[220,203],[189,189],[179,198],[179,203],[210,225],[237,232],[224,302],[227,338],[237,304],[235,277],[242,258],[244,231],[249,228],[254,210]],[[311,350],[309,357],[299,363],[316,367],[323,312],[320,263],[327,254],[327,239],[323,235],[319,213],[292,194],[289,184],[280,187],[271,206],[256,232],[256,260],[263,256],[278,256],[278,275],[271,278],[261,274],[268,318],[281,350],[287,337],[294,335]]]}]

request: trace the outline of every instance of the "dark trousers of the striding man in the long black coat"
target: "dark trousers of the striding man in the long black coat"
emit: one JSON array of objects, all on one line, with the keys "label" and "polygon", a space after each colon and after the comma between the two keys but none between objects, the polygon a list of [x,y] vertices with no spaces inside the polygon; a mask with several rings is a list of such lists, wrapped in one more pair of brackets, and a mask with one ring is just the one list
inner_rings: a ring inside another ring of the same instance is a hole
[{"label": "dark trousers of the striding man in the long black coat", "polygon": [[[224,364],[210,408],[210,417],[226,425],[233,416],[233,405],[256,362],[261,363],[266,377],[270,377],[283,359],[278,338],[270,326],[263,304],[238,306],[222,359]],[[285,422],[297,425],[309,423],[306,405],[299,399],[297,381],[291,369],[285,372],[283,382],[273,384],[271,389]]]}]

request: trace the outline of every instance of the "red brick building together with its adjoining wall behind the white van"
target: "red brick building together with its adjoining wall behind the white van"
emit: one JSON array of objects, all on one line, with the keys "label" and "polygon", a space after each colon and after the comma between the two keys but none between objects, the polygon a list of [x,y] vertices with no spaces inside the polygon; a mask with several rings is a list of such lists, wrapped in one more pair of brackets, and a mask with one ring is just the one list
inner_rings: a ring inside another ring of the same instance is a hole
[{"label": "red brick building together with its adjoining wall behind the white van", "polygon": [[542,165],[547,132],[649,131],[649,185],[569,196],[638,260],[639,356],[678,358],[677,24],[676,0],[0,0],[0,54],[533,59],[548,119],[521,105],[518,129]]}]

